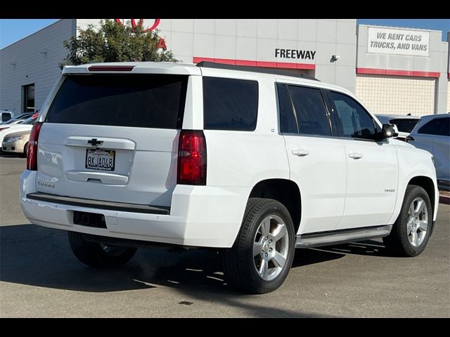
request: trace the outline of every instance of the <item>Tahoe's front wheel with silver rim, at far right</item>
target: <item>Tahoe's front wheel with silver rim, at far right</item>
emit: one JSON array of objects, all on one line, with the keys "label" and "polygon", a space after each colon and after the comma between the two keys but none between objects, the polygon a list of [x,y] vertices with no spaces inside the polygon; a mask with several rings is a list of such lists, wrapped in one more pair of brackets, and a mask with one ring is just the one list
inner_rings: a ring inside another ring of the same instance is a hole
[{"label": "Tahoe's front wheel with silver rim, at far right", "polygon": [[383,243],[396,256],[420,255],[430,239],[432,218],[427,192],[420,186],[408,185],[399,217]]}]

